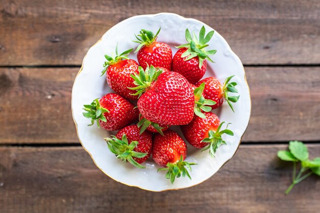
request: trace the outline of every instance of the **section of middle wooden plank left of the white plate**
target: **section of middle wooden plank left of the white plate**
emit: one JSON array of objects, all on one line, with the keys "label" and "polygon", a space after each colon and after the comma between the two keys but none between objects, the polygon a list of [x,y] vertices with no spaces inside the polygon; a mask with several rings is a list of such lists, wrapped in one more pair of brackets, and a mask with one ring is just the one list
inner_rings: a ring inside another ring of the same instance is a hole
[{"label": "section of middle wooden plank left of the white plate", "polygon": [[76,74],[77,68],[1,68],[1,143],[78,143],[71,113]]}]

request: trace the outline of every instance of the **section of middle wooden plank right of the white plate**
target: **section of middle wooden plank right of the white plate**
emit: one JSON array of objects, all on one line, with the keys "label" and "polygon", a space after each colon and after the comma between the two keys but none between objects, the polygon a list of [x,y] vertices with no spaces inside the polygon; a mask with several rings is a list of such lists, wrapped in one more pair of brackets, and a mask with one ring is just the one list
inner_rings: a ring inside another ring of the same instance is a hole
[{"label": "section of middle wooden plank right of the white plate", "polygon": [[252,99],[244,141],[320,139],[320,67],[248,67]]}]

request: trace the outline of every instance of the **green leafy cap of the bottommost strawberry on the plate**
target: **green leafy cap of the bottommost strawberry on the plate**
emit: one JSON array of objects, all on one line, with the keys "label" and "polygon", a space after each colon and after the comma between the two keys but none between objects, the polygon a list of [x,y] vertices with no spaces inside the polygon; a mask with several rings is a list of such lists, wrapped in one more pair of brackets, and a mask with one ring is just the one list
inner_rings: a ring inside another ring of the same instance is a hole
[{"label": "green leafy cap of the bottommost strawberry on the plate", "polygon": [[166,178],[170,180],[170,182],[173,184],[175,178],[179,178],[179,177],[186,177],[186,175],[190,178],[191,180],[191,176],[187,170],[187,168],[191,170],[191,165],[196,165],[197,163],[191,163],[191,162],[187,162],[184,161],[182,155],[180,156],[179,161],[175,162],[175,163],[170,163],[168,162],[166,165],[166,168],[161,168],[158,169],[158,171],[168,171],[166,173]]}]

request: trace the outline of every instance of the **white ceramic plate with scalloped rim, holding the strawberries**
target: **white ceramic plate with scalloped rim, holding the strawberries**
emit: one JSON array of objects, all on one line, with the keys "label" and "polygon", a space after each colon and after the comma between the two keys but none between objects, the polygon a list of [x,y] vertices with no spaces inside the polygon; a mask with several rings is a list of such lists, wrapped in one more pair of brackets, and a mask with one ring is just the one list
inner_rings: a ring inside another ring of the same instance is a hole
[{"label": "white ceramic plate with scalloped rim, holding the strawberries", "polygon": [[[123,163],[117,159],[114,154],[109,152],[104,137],[116,132],[98,129],[96,125],[87,126],[89,120],[82,115],[84,104],[91,103],[94,99],[102,97],[104,94],[112,92],[108,87],[105,77],[100,77],[102,64],[105,61],[104,55],[110,55],[116,49],[118,50],[136,48],[137,43],[134,40],[134,34],[138,34],[141,29],[148,29],[156,32],[161,27],[158,35],[158,41],[168,43],[173,51],[177,51],[174,46],[186,43],[185,30],[188,28],[198,34],[200,28],[204,25],[206,32],[213,30],[208,25],[191,18],[172,13],[159,13],[155,15],[139,15],[121,21],[116,26],[108,30],[102,38],[93,45],[83,59],[82,67],[76,77],[72,90],[72,110],[75,124],[77,126],[78,137],[83,148],[93,158],[95,164],[110,178],[123,184],[136,186],[149,191],[165,191],[179,188],[190,187],[203,182],[215,174],[222,165],[228,161],[238,149],[241,137],[246,130],[250,117],[250,94],[246,83],[243,65],[223,37],[215,31],[209,48],[217,50],[217,53],[211,58],[216,63],[208,62],[207,73],[205,77],[215,76],[221,82],[231,75],[232,79],[238,83],[240,99],[234,104],[235,113],[224,103],[222,107],[213,112],[216,113],[220,121],[232,123],[230,129],[234,136],[223,135],[227,145],[221,146],[216,157],[210,157],[208,152],[200,152],[188,143],[187,161],[198,163],[194,165],[191,173],[192,180],[188,178],[177,178],[174,184],[165,179],[165,172],[157,172],[159,166],[153,162],[150,157],[145,163],[147,168],[134,168],[129,163]],[[136,60],[135,54],[130,54],[130,58]],[[178,127],[173,127],[181,136],[182,133]]]}]

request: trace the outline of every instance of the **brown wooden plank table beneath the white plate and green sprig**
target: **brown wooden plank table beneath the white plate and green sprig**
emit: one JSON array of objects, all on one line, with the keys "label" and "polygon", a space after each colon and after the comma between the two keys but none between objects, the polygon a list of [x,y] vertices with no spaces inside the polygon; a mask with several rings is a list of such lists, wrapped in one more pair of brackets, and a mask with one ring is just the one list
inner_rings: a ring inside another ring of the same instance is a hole
[{"label": "brown wooden plank table beneath the white plate and green sprig", "polygon": [[[0,212],[319,212],[311,176],[285,196],[288,140],[320,155],[320,2],[0,0]],[[185,190],[105,176],[79,144],[71,90],[88,48],[137,14],[174,12],[217,30],[245,65],[252,116],[232,160]]]}]

